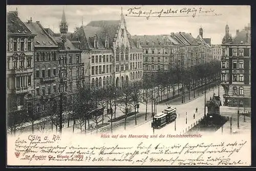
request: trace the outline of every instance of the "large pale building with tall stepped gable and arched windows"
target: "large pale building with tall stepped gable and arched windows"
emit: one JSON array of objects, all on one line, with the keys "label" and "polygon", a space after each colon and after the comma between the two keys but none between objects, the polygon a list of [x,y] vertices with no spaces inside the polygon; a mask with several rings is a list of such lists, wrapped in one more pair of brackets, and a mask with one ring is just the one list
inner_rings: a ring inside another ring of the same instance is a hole
[{"label": "large pale building with tall stepped gable and arched windows", "polygon": [[69,38],[81,42],[86,82],[121,87],[142,79],[143,49],[131,39],[122,12],[120,20],[92,21]]}]

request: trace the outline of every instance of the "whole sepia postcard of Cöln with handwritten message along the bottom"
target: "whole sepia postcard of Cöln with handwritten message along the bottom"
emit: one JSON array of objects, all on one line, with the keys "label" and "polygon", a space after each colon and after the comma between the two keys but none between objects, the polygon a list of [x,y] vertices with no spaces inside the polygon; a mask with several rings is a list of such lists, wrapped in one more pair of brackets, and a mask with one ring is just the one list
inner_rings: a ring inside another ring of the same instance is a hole
[{"label": "whole sepia postcard of C\u00f6ln with handwritten message along the bottom", "polygon": [[250,13],[7,5],[7,165],[250,166]]}]

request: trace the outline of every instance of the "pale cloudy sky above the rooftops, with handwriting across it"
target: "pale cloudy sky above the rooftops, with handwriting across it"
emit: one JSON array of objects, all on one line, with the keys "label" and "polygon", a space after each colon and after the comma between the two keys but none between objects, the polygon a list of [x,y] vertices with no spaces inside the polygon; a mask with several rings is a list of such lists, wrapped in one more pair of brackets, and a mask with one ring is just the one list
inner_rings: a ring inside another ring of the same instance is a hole
[{"label": "pale cloudy sky above the rooftops, with handwriting across it", "polygon": [[42,26],[55,33],[59,33],[63,9],[69,32],[74,32],[76,26],[86,26],[92,20],[118,20],[122,8],[127,30],[132,35],[187,32],[196,38],[202,27],[203,37],[211,38],[212,44],[221,44],[226,24],[229,26],[229,33],[235,36],[236,30],[242,30],[251,20],[250,6],[15,5],[7,6],[7,11],[14,11],[16,8],[23,22],[32,17],[34,22],[39,21]]}]

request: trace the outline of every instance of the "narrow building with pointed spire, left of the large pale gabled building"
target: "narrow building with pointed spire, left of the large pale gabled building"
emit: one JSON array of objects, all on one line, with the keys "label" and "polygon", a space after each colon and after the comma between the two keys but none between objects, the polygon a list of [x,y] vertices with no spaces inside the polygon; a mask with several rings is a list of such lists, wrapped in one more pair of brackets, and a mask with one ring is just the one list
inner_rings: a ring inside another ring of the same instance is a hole
[{"label": "narrow building with pointed spire, left of the large pale gabled building", "polygon": [[59,26],[60,36],[48,30],[58,45],[58,90],[59,93],[68,96],[84,85],[84,63],[81,61],[80,41],[71,41],[67,38],[68,23],[64,10]]}]

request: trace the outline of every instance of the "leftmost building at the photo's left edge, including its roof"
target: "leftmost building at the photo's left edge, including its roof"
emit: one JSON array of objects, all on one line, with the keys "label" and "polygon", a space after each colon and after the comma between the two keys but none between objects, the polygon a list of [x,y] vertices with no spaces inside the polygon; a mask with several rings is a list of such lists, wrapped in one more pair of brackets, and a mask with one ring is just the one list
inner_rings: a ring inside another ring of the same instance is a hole
[{"label": "leftmost building at the photo's left edge, including its roof", "polygon": [[7,111],[23,108],[28,95],[34,92],[35,35],[18,17],[18,12],[7,13]]}]

